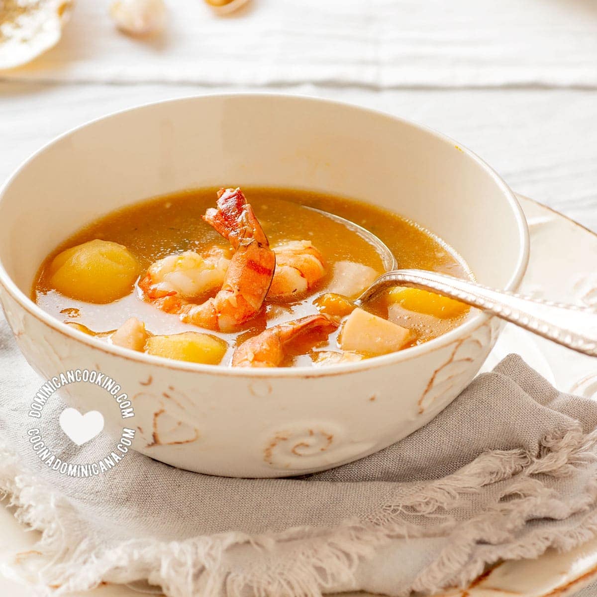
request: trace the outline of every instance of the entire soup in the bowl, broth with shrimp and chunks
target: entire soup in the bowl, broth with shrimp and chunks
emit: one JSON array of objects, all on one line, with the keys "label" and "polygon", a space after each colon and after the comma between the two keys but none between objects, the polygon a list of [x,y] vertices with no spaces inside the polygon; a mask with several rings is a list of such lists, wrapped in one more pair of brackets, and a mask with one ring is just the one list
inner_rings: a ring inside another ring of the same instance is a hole
[{"label": "entire soup in the bowl, broth with shrimp and chunks", "polygon": [[161,358],[235,368],[358,366],[460,325],[468,307],[396,287],[353,302],[401,267],[472,277],[445,242],[397,214],[288,189],[193,190],[89,224],[41,264],[34,300],[76,334]]}]

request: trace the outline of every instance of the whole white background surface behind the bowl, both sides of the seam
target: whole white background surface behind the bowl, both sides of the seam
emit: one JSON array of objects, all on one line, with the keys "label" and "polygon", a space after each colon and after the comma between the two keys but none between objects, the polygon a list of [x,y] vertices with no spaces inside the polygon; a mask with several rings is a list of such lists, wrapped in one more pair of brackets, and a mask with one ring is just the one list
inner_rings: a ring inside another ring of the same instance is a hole
[{"label": "whole white background surface behind the bowl, both sides of the seam", "polygon": [[[517,192],[597,231],[597,1],[254,0],[227,19],[201,0],[167,4],[166,35],[143,42],[113,30],[106,0],[79,0],[57,48],[0,73],[0,180],[114,110],[290,92],[440,130]],[[2,582],[1,595],[29,594]]]}]

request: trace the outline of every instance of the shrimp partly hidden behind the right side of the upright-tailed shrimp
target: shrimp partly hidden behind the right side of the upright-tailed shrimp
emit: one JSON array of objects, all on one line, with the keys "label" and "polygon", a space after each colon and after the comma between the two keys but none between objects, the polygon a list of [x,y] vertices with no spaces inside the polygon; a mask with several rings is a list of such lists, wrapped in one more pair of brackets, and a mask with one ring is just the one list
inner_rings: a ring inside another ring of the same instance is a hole
[{"label": "shrimp partly hidden behind the right side of the upright-tailed shrimp", "polygon": [[325,276],[321,253],[311,241],[289,241],[273,248],[276,271],[268,298],[288,300],[311,290]]}]

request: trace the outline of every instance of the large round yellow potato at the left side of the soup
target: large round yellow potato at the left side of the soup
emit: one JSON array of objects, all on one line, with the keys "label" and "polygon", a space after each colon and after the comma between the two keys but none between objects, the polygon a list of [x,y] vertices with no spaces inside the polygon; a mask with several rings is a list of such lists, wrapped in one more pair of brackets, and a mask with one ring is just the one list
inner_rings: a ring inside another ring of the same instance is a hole
[{"label": "large round yellow potato at the left side of the soup", "polygon": [[62,251],[50,265],[50,285],[70,298],[111,303],[130,293],[139,263],[116,242],[84,242]]}]

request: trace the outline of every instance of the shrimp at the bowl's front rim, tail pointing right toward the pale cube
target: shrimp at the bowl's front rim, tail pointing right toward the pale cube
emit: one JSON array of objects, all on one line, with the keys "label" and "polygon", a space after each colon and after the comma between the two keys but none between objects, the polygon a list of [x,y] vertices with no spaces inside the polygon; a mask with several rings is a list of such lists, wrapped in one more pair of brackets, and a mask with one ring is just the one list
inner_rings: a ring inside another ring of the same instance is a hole
[{"label": "shrimp at the bowl's front rim, tail pointing right toward the pale cube", "polygon": [[287,344],[306,333],[330,334],[338,327],[327,315],[307,315],[271,328],[237,346],[232,367],[278,367],[284,359]]}]

